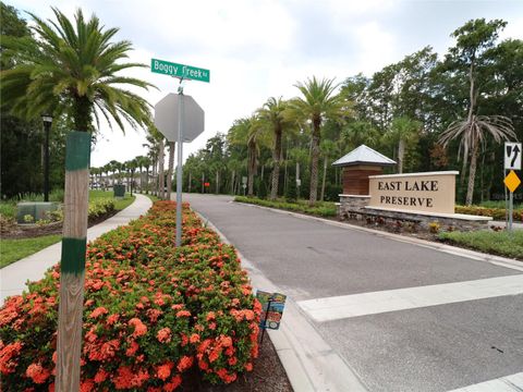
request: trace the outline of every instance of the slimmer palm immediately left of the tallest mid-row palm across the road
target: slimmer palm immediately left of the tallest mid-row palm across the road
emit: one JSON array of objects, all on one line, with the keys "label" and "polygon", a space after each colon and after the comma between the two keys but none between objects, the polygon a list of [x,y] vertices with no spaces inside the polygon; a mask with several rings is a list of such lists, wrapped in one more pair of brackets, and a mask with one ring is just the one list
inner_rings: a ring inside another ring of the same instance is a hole
[{"label": "slimmer palm immediately left of the tallest mid-row palm across the road", "polygon": [[272,181],[270,189],[270,199],[276,200],[278,197],[278,183],[280,179],[280,162],[281,162],[281,138],[283,132],[295,123],[290,117],[288,103],[280,98],[269,98],[264,106],[257,111],[258,119],[263,125],[270,128],[273,134],[272,148]]}]

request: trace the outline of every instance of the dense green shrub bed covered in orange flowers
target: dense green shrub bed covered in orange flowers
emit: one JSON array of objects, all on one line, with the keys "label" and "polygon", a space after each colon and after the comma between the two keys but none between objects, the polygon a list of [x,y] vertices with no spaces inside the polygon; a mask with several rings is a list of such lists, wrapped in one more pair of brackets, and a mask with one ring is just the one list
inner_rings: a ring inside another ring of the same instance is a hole
[{"label": "dense green shrub bed covered in orange flowers", "polygon": [[[258,352],[260,305],[234,248],[175,203],[87,247],[82,391],[173,391],[187,371],[229,383]],[[52,391],[59,266],[0,309],[2,391]]]}]

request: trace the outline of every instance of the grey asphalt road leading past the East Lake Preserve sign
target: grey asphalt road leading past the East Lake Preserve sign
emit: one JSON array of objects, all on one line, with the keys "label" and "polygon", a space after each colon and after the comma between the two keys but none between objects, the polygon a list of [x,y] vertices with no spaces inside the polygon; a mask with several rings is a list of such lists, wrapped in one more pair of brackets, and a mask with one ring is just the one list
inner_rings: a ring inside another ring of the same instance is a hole
[{"label": "grey asphalt road leading past the East Lake Preserve sign", "polygon": [[[227,196],[184,195],[184,200],[297,304],[337,297],[345,306],[375,292],[387,297],[399,289],[447,290],[452,283],[460,289],[460,282],[467,290],[469,281],[507,277],[519,284],[523,277],[518,269],[231,203]],[[452,303],[450,293],[448,303],[429,298],[440,302],[436,306],[357,317],[336,319],[337,309],[328,309],[335,319],[309,321],[369,391],[450,391],[523,371],[523,294],[494,289],[491,297],[471,294],[470,301]]]}]

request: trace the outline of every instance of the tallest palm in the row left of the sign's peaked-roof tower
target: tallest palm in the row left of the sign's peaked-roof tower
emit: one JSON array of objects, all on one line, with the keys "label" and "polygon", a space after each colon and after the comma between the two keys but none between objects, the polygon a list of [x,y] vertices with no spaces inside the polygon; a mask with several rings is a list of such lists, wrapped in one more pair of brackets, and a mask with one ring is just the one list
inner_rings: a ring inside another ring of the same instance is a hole
[{"label": "tallest palm in the row left of the sign's peaked-roof tower", "polygon": [[348,113],[345,101],[341,95],[335,95],[337,85],[333,79],[318,81],[307,78],[305,83],[295,85],[303,97],[291,101],[297,117],[312,122],[312,161],[311,161],[311,191],[308,204],[314,205],[318,196],[318,162],[319,143],[321,139],[321,124],[325,119],[337,120]]}]

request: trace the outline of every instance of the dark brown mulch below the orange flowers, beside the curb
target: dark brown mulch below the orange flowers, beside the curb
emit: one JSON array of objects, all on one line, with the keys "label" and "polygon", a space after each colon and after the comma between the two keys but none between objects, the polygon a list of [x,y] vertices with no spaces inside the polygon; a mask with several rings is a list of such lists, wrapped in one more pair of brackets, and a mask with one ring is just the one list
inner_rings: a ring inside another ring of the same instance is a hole
[{"label": "dark brown mulch below the orange flowers, beside the curb", "polygon": [[292,392],[283,365],[276,353],[275,346],[266,334],[259,346],[259,356],[254,363],[253,371],[244,372],[238,380],[227,385],[211,385],[198,380],[192,373],[184,381],[182,392]]}]

